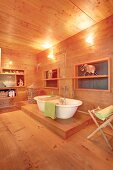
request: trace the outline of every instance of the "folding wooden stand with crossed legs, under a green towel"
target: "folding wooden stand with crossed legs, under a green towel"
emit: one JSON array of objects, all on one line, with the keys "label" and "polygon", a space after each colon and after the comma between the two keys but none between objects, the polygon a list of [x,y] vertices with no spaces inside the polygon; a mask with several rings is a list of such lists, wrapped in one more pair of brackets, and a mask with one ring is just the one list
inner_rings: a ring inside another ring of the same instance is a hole
[{"label": "folding wooden stand with crossed legs, under a green towel", "polygon": [[110,126],[113,130],[113,125],[111,124],[111,122],[113,121],[113,115],[107,117],[107,119],[105,121],[103,121],[101,124],[98,122],[98,118],[96,117],[95,113],[97,111],[100,110],[100,107],[93,109],[93,110],[88,110],[90,116],[92,117],[93,121],[95,122],[95,124],[97,125],[97,129],[95,131],[93,131],[88,137],[87,139],[90,139],[94,134],[96,134],[98,131],[101,132],[106,144],[108,145],[108,147],[113,150],[113,147],[111,146],[109,140],[107,139],[107,136],[105,134],[105,132],[103,131],[103,128],[105,128],[106,126]]}]

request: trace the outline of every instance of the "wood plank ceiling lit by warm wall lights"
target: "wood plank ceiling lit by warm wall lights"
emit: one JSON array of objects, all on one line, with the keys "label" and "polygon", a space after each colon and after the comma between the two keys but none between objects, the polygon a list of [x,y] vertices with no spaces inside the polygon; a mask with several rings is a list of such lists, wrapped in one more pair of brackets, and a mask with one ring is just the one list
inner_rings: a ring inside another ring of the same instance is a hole
[{"label": "wood plank ceiling lit by warm wall lights", "polygon": [[113,0],[0,0],[0,47],[44,50],[113,15]]}]

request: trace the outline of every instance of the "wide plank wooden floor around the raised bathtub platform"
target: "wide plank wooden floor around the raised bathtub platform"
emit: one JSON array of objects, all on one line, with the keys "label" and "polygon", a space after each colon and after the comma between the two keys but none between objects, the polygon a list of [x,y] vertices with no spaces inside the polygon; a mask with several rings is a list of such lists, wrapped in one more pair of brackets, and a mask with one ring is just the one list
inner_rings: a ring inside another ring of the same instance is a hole
[{"label": "wide plank wooden floor around the raised bathtub platform", "polygon": [[113,152],[89,125],[64,140],[21,110],[0,114],[1,170],[112,170]]}]

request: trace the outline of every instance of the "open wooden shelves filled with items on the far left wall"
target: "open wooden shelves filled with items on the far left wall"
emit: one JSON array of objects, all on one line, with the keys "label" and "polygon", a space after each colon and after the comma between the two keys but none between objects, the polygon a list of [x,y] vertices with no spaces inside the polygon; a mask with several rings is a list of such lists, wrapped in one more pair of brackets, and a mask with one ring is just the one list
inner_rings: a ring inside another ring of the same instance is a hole
[{"label": "open wooden shelves filled with items on the far left wall", "polygon": [[[2,69],[0,73],[0,101],[18,95],[18,88],[25,87],[24,70]],[[5,102],[3,103],[5,107]],[[10,105],[10,103],[9,103]]]}]

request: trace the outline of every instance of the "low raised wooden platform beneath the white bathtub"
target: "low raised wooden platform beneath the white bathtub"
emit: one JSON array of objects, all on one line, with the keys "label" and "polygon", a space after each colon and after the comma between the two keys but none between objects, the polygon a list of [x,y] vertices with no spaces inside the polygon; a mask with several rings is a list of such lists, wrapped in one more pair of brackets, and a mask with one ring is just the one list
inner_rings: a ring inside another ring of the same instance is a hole
[{"label": "low raised wooden platform beneath the white bathtub", "polygon": [[79,112],[77,112],[73,118],[67,120],[58,118],[52,120],[51,118],[45,117],[43,113],[39,111],[36,104],[28,104],[22,106],[21,109],[33,119],[38,120],[53,132],[61,136],[63,139],[68,138],[91,123],[89,115]]}]

